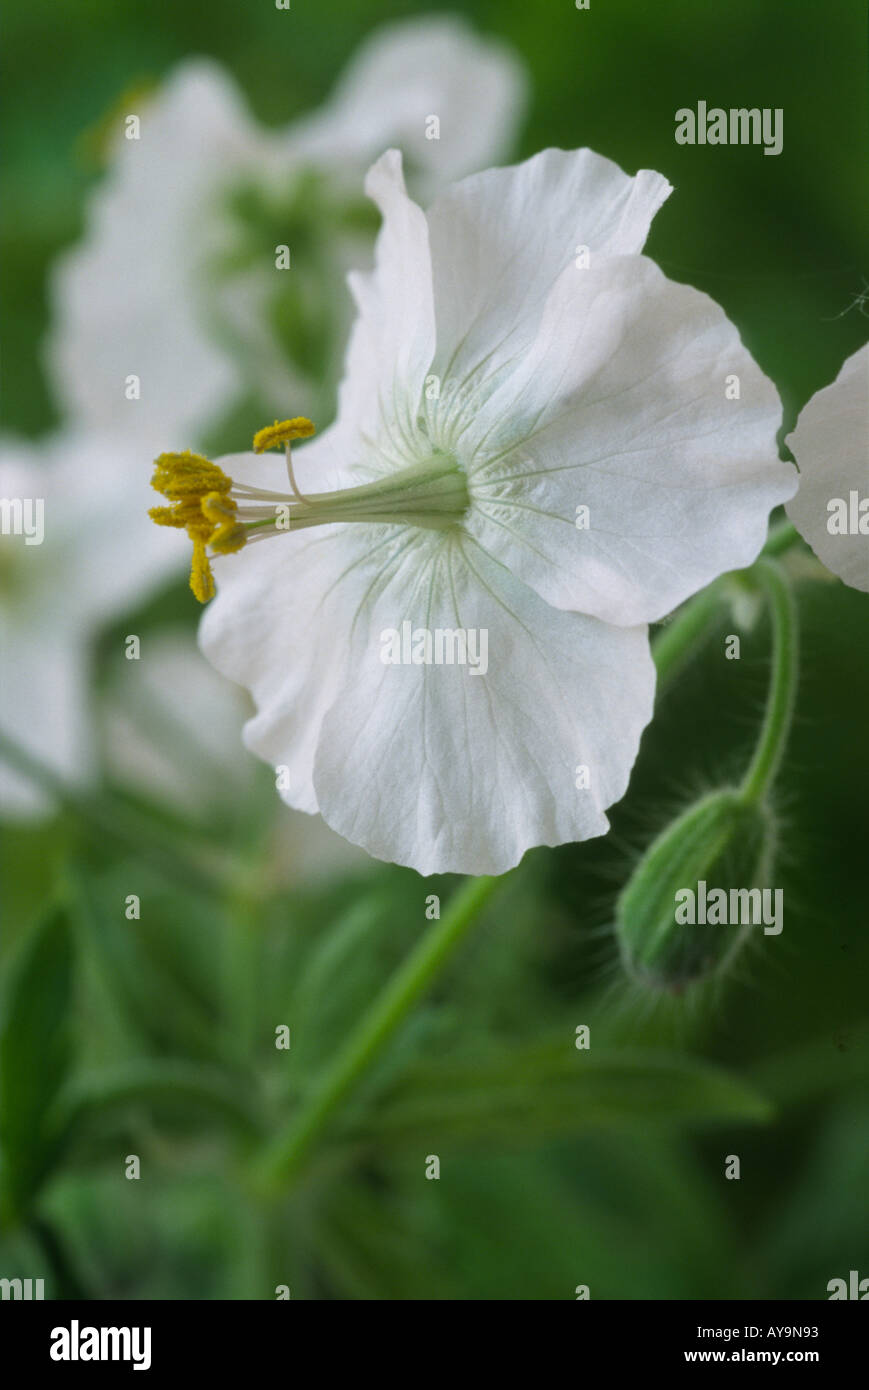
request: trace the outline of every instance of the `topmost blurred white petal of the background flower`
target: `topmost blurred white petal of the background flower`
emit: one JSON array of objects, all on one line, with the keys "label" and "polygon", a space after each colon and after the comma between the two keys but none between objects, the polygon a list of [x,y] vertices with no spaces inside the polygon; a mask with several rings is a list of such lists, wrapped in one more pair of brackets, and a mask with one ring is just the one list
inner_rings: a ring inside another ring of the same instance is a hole
[{"label": "topmost blurred white petal of the background flower", "polygon": [[506,44],[478,39],[463,19],[399,21],[363,43],[328,106],[292,135],[311,156],[345,160],[368,161],[399,146],[424,193],[506,153],[526,86]]}]

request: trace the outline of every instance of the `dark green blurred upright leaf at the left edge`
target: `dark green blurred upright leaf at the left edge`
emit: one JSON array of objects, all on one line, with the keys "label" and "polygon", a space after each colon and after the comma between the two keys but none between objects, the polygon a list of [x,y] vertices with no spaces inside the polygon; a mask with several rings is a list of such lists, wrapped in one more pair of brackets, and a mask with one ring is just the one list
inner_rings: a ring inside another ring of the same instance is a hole
[{"label": "dark green blurred upright leaf at the left edge", "polygon": [[51,1170],[50,1108],[71,1062],[72,938],[56,903],[25,937],[0,1019],[0,1209],[22,1215]]}]

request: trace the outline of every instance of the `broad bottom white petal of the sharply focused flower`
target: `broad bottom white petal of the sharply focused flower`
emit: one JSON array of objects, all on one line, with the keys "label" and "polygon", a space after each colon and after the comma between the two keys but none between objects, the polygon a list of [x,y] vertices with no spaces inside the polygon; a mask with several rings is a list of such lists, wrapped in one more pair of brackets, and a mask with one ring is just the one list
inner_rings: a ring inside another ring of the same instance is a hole
[{"label": "broad bottom white petal of the sharply focused flower", "polygon": [[[353,582],[314,763],[328,824],[423,874],[503,873],[531,845],[606,831],[652,713],[645,628],[548,607],[460,532],[409,531]],[[487,630],[488,670],[384,664],[381,634],[403,621]],[[289,701],[281,723],[288,741]]]}]

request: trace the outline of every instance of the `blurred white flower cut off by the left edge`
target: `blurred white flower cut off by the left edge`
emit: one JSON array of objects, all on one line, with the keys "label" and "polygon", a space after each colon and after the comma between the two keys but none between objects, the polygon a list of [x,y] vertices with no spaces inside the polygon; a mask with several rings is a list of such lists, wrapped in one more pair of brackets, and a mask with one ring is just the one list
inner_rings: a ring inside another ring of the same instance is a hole
[{"label": "blurred white flower cut off by the left edge", "polygon": [[[171,538],[147,521],[129,445],[65,434],[0,441],[0,731],[68,783],[95,762],[90,651],[103,624],[178,573]],[[51,810],[0,763],[4,816]]]}]

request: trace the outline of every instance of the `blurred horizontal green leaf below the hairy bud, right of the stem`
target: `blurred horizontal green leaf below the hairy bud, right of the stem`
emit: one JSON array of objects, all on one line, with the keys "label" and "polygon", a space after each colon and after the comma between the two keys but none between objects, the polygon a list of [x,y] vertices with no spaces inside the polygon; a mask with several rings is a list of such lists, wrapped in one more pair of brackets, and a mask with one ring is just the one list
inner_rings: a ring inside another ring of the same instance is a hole
[{"label": "blurred horizontal green leaf below the hairy bud, right of the stem", "polygon": [[670,1054],[577,1051],[571,1034],[481,1062],[407,1068],[353,1138],[378,1145],[539,1143],[588,1129],[759,1122],[765,1098],[730,1073]]}]

